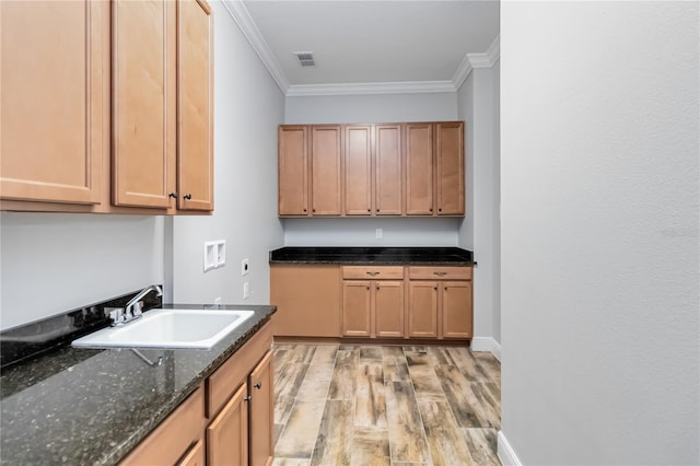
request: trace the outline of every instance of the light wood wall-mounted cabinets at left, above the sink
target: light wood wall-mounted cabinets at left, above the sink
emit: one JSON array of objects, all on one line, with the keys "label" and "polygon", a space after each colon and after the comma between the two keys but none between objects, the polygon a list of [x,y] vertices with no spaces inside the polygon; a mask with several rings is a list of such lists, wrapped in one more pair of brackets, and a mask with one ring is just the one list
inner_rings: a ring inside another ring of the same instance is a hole
[{"label": "light wood wall-mounted cabinets at left, above the sink", "polygon": [[211,211],[211,26],[205,0],[1,2],[0,208]]}]

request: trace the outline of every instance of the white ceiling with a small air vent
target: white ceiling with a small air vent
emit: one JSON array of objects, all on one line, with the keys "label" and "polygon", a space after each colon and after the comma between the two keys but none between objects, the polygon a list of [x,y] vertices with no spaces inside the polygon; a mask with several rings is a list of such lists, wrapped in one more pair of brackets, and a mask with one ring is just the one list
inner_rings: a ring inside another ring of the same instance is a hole
[{"label": "white ceiling with a small air vent", "polygon": [[[288,95],[372,88],[450,91],[475,60],[498,55],[498,0],[230,0],[226,5]],[[302,68],[295,51],[313,51],[316,66]]]}]

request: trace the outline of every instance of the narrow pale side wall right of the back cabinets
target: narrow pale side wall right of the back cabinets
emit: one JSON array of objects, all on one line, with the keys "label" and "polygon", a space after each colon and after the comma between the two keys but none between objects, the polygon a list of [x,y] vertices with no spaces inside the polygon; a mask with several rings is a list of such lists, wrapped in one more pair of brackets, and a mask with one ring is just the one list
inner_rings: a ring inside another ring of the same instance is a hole
[{"label": "narrow pale side wall right of the back cabinets", "polygon": [[[468,214],[459,225],[458,244],[474,251],[475,348],[481,338],[501,341],[500,219],[499,219],[499,100],[500,65],[475,68],[457,93],[459,118],[465,120]],[[490,340],[487,340],[490,341]],[[498,349],[497,349],[498,351]]]}]

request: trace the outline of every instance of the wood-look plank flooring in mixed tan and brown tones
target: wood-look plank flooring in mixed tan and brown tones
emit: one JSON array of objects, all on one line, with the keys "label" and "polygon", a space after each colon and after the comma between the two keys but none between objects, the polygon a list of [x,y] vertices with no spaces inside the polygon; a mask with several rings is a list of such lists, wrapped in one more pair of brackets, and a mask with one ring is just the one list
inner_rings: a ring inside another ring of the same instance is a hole
[{"label": "wood-look plank flooring in mixed tan and brown tones", "polygon": [[275,346],[273,465],[499,465],[501,366],[435,346]]}]

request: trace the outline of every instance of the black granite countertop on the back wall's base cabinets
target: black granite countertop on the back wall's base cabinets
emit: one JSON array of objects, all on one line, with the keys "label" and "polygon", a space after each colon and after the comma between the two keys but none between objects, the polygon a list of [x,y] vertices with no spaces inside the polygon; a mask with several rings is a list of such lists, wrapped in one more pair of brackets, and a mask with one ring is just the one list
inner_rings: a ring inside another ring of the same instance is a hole
[{"label": "black granite countertop on the back wall's base cabinets", "polygon": [[471,251],[459,247],[281,247],[270,264],[472,266]]}]

